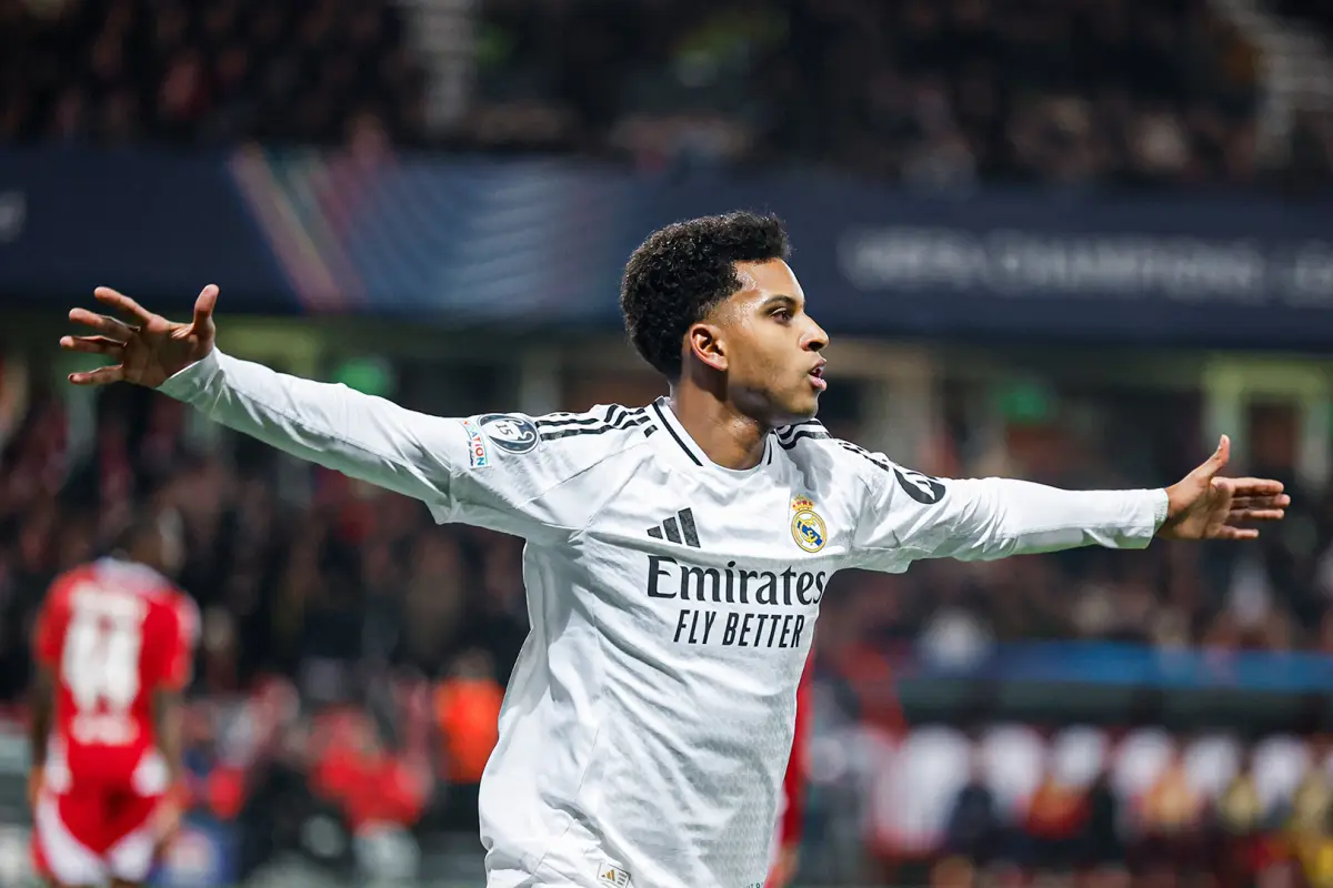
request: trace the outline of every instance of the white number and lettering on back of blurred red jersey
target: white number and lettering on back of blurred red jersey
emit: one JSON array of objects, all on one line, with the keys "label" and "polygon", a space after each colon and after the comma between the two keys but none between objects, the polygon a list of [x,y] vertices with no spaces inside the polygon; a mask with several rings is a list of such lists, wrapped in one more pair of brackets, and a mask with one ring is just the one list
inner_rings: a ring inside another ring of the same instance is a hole
[{"label": "white number and lettering on back of blurred red jersey", "polygon": [[135,742],[139,652],[148,608],[137,595],[97,586],[72,591],[61,679],[77,712],[71,731],[83,744]]}]

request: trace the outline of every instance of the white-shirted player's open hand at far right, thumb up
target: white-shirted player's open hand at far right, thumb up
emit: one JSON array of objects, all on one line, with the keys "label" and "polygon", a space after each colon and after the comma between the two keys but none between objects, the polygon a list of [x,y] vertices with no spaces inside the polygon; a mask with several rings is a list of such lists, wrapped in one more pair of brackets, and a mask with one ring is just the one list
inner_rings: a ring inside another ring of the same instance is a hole
[{"label": "white-shirted player's open hand at far right, thumb up", "polygon": [[1258,530],[1241,522],[1281,521],[1292,498],[1282,482],[1268,478],[1218,478],[1232,455],[1222,435],[1204,465],[1166,489],[1166,521],[1157,530],[1166,539],[1254,539]]}]

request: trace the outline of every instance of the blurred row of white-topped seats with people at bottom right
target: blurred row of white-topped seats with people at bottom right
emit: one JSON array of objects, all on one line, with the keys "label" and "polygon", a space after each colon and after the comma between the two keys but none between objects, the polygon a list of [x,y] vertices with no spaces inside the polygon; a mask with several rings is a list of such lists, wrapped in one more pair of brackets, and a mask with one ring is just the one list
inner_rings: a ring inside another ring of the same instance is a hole
[{"label": "blurred row of white-topped seats with people at bottom right", "polygon": [[813,816],[837,817],[837,785],[865,780],[861,828],[881,884],[1317,888],[1333,879],[1326,736],[925,726],[862,736],[862,747],[864,763],[842,772],[818,762],[828,750],[812,754],[812,772],[826,775]]}]

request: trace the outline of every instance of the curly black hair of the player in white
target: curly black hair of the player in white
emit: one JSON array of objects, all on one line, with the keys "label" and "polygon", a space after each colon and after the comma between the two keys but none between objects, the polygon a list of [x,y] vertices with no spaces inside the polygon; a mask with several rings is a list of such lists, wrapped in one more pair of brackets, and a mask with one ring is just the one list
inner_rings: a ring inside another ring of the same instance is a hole
[{"label": "curly black hair of the player in white", "polygon": [[629,257],[620,284],[620,310],[635,349],[668,379],[678,379],[685,332],[741,286],[736,262],[789,254],[776,216],[702,216],[653,232]]}]

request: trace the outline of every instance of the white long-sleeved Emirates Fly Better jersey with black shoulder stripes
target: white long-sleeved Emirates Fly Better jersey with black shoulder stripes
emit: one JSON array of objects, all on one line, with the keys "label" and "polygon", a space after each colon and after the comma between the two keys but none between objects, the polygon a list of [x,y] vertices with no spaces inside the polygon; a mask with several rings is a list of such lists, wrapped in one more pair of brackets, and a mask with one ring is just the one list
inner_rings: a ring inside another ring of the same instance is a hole
[{"label": "white long-sleeved Emirates Fly Better jersey with black shoulder stripes", "polygon": [[1142,547],[1166,513],[1162,490],[929,478],[818,422],[722,469],[665,401],[449,419],[216,350],[161,390],[527,539],[532,630],[481,783],[491,888],[761,887],[834,572]]}]

